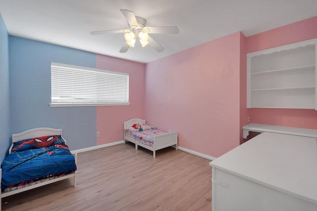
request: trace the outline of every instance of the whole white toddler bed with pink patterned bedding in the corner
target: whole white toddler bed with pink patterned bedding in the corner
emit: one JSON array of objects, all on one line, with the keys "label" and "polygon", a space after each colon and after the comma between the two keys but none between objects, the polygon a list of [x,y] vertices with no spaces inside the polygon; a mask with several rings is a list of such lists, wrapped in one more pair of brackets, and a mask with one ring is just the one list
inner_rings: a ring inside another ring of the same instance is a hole
[{"label": "whole white toddler bed with pink patterned bedding in the corner", "polygon": [[[156,151],[175,145],[177,150],[177,132],[164,132],[157,130],[153,126],[146,125],[145,120],[131,119],[123,124],[124,143],[130,141],[135,144],[135,150],[138,146],[153,151],[153,158],[156,157]],[[142,129],[139,129],[139,128]]]}]

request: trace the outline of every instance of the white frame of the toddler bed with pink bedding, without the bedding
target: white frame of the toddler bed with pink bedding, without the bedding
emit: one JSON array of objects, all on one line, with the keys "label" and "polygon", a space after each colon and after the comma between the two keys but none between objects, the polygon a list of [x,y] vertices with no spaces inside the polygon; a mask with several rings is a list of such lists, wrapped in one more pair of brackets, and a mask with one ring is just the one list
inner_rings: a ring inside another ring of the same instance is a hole
[{"label": "white frame of the toddler bed with pink bedding, without the bedding", "polygon": [[124,130],[124,143],[125,141],[130,141],[135,144],[135,150],[138,150],[138,146],[144,147],[148,150],[153,151],[153,158],[156,157],[156,151],[159,149],[163,149],[169,146],[175,145],[175,148],[177,150],[177,132],[167,132],[164,134],[156,135],[154,136],[154,142],[153,147],[149,147],[147,145],[144,145],[142,143],[138,143],[135,141],[133,137],[133,132],[131,130],[125,129],[127,126],[131,126],[134,124],[145,124],[145,120],[141,119],[131,119],[123,124],[123,130]]}]

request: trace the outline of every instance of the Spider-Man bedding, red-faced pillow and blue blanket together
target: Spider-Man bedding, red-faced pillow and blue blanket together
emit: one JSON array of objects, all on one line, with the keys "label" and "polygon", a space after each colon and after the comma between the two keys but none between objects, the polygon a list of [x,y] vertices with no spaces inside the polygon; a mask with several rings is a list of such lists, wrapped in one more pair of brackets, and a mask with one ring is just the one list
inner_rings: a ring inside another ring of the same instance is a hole
[{"label": "Spider-Man bedding, red-faced pillow and blue blanket together", "polygon": [[15,142],[2,162],[1,190],[76,170],[75,158],[59,135]]}]

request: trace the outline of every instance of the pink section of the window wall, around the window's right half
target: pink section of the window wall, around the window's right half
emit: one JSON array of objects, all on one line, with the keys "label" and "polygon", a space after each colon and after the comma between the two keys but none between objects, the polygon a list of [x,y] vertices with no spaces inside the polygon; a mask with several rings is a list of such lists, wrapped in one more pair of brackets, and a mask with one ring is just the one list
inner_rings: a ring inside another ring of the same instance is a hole
[{"label": "pink section of the window wall, around the window's right half", "polygon": [[97,54],[96,68],[129,74],[129,106],[97,106],[97,145],[123,140],[123,122],[144,119],[146,65]]}]

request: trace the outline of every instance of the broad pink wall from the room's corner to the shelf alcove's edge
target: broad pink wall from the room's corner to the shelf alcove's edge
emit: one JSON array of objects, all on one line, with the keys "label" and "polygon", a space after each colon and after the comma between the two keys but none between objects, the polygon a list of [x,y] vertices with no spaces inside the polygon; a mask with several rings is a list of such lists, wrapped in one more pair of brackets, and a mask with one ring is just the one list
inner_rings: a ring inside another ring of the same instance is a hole
[{"label": "broad pink wall from the room's corner to the shelf alcove's edge", "polygon": [[145,117],[218,157],[239,145],[240,32],[147,64]]}]

